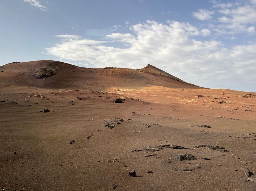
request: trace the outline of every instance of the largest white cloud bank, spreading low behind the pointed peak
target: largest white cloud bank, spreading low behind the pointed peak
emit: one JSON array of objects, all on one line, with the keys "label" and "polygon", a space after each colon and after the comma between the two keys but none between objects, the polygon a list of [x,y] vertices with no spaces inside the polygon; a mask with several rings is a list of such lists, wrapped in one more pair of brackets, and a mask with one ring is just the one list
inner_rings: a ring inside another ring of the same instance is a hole
[{"label": "largest white cloud bank, spreading low behind the pointed peak", "polygon": [[102,41],[58,35],[60,43],[46,51],[63,61],[81,62],[80,66],[142,68],[150,63],[182,80],[212,88],[242,86],[256,77],[256,44],[225,48],[219,41],[199,41],[196,36],[211,31],[177,21],[168,25],[147,21],[129,30],[109,34]]}]

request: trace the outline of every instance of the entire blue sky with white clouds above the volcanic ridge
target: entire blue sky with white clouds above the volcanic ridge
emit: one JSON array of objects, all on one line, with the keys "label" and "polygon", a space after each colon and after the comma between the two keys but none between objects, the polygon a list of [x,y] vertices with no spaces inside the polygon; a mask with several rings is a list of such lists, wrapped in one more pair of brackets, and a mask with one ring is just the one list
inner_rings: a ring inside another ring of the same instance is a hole
[{"label": "entire blue sky with white clouds above the volcanic ridge", "polygon": [[207,88],[256,92],[256,0],[0,0],[0,66],[151,64]]}]

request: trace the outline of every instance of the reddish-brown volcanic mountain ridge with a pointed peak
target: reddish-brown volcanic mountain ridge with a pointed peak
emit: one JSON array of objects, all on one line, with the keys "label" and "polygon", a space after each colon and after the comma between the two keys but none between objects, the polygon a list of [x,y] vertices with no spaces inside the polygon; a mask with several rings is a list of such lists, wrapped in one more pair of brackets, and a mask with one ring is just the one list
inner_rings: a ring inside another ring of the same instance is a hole
[{"label": "reddish-brown volcanic mountain ridge with a pointed peak", "polygon": [[142,69],[84,68],[64,62],[40,60],[0,66],[2,85],[50,89],[141,89],[148,86],[201,88],[148,65]]}]

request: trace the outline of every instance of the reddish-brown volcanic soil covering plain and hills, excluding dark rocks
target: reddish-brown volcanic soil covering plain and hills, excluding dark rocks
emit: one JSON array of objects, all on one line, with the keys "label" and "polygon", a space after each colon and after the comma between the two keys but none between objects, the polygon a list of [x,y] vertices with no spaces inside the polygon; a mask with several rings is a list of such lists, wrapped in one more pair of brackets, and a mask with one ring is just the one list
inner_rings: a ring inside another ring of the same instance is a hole
[{"label": "reddish-brown volcanic soil covering plain and hills, excluding dark rocks", "polygon": [[0,189],[256,190],[256,93],[56,61],[0,66],[0,92]]}]

